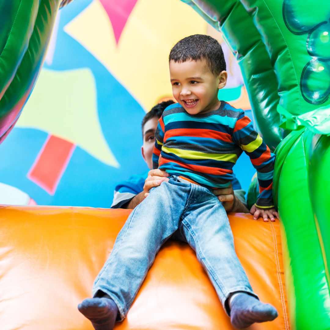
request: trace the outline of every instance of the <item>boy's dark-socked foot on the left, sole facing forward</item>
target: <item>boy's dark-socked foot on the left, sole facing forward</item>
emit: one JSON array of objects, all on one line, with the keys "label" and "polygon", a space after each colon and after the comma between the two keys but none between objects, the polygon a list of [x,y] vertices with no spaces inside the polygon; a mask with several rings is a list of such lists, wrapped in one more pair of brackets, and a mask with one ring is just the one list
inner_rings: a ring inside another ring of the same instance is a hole
[{"label": "boy's dark-socked foot on the left, sole facing forward", "polygon": [[95,330],[112,330],[118,307],[112,299],[88,298],[78,305],[78,310],[91,322]]}]

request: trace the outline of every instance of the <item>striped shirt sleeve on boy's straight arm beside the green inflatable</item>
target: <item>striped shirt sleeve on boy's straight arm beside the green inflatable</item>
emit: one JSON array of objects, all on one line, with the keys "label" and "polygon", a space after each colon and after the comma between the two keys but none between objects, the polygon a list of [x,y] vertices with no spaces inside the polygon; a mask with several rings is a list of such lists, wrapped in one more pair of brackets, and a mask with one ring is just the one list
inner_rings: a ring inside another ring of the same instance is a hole
[{"label": "striped shirt sleeve on boy's straight arm beside the green inflatable", "polygon": [[259,195],[255,205],[259,208],[274,207],[273,174],[275,154],[270,152],[261,136],[254,130],[252,122],[244,111],[236,121],[233,139],[235,143],[250,157],[257,171]]}]

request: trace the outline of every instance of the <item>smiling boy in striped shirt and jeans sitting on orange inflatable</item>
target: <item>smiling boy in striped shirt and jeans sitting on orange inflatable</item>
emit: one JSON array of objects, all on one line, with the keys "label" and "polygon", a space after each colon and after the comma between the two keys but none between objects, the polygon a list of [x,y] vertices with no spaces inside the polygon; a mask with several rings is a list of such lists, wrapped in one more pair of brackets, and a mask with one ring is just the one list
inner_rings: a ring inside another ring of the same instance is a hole
[{"label": "smiling boy in striped shirt and jeans sitting on orange inflatable", "polygon": [[169,238],[186,241],[197,254],[230,315],[243,329],[271,321],[276,309],[253,293],[235,253],[226,212],[212,188],[230,185],[232,167],[244,150],[259,176],[261,194],[254,217],[275,221],[272,208],[274,155],[242,110],[219,101],[227,73],[219,43],[204,35],[180,40],[169,56],[173,96],[159,119],[153,167],[166,170],[168,182],[150,190],[118,234],[112,253],[95,280],[92,299],[79,306],[96,330],[122,320],[155,254]]}]

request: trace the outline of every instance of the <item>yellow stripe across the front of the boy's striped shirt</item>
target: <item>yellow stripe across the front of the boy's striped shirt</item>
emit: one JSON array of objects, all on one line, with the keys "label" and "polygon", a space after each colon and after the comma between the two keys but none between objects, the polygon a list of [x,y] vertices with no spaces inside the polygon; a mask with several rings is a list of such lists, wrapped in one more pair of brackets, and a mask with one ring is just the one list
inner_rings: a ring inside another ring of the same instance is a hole
[{"label": "yellow stripe across the front of the boy's striped shirt", "polygon": [[166,153],[174,153],[178,157],[184,159],[214,159],[214,160],[222,160],[225,162],[236,163],[237,155],[234,153],[204,153],[200,151],[193,150],[183,150],[183,149],[175,149],[175,148],[167,148],[162,147],[162,151]]}]

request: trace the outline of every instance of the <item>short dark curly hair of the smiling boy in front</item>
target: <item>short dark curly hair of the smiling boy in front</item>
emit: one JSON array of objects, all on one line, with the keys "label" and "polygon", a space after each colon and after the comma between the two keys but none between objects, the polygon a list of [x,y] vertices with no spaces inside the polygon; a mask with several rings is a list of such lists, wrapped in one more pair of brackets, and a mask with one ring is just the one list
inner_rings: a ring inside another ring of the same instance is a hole
[{"label": "short dark curly hair of the smiling boy in front", "polygon": [[219,42],[205,34],[194,34],[178,41],[170,51],[169,62],[205,59],[210,71],[217,76],[226,70],[226,61]]}]

